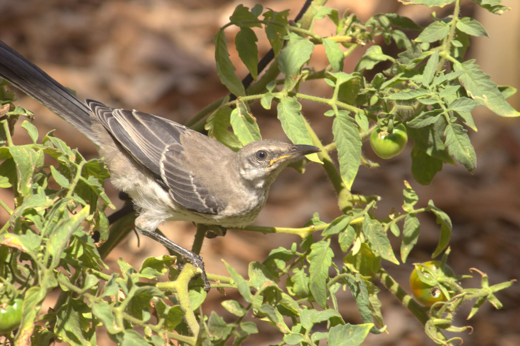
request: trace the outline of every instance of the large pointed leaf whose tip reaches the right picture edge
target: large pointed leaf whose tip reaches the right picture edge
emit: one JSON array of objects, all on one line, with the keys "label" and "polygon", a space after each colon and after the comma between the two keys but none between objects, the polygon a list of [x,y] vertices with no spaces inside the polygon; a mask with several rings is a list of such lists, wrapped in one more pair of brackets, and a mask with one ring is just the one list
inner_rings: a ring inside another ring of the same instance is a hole
[{"label": "large pointed leaf whose tip reaches the right picture edge", "polygon": [[472,59],[462,64],[453,64],[455,71],[466,71],[459,76],[459,81],[464,85],[467,95],[500,116],[520,116],[520,112],[505,100],[497,84],[489,79],[488,74],[479,70],[474,62]]}]

